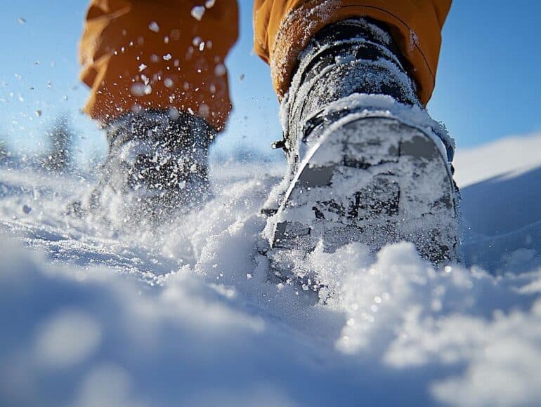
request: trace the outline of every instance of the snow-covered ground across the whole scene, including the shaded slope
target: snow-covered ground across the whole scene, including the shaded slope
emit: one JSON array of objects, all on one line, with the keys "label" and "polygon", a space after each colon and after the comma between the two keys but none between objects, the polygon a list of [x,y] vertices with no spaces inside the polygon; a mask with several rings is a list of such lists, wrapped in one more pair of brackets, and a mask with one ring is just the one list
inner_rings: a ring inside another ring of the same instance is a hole
[{"label": "snow-covered ground across the whole scene, including the shaded slope", "polygon": [[282,168],[215,167],[216,199],[159,232],[68,218],[85,180],[0,168],[0,405],[539,405],[540,147],[458,152],[464,265],[317,252],[325,305],[255,249]]}]

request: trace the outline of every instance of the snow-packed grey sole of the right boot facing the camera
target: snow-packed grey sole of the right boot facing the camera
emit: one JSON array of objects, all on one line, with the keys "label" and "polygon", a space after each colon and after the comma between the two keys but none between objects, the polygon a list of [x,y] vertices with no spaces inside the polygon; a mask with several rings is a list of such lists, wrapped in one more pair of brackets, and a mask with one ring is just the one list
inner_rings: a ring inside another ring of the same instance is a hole
[{"label": "snow-packed grey sole of the right boot facing the camera", "polygon": [[308,153],[271,218],[274,274],[298,278],[292,258],[320,241],[328,253],[353,242],[375,253],[410,241],[434,265],[457,261],[455,185],[435,139],[388,116],[335,125]]}]

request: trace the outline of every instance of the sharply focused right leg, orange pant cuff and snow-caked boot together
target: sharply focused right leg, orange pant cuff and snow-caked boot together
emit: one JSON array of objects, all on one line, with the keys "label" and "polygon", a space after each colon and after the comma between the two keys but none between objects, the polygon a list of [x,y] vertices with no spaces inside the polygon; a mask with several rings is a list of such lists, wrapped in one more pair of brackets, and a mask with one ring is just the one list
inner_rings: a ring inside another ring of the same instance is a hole
[{"label": "sharply focused right leg, orange pant cuff and snow-caked boot together", "polygon": [[449,6],[256,2],[256,50],[282,102],[291,180],[273,193],[266,228],[271,265],[285,280],[304,276],[296,256],[320,242],[325,251],[358,242],[375,252],[406,240],[434,264],[457,260],[453,143],[424,109]]}]

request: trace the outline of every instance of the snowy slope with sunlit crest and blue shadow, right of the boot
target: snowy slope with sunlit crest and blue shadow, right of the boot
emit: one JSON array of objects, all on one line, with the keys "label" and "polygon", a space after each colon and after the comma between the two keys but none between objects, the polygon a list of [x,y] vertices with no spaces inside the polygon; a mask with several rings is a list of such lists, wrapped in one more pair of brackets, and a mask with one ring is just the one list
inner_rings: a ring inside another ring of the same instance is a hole
[{"label": "snowy slope with sunlit crest and blue shadow, right of the boot", "polygon": [[457,154],[468,265],[495,274],[541,267],[541,135]]}]

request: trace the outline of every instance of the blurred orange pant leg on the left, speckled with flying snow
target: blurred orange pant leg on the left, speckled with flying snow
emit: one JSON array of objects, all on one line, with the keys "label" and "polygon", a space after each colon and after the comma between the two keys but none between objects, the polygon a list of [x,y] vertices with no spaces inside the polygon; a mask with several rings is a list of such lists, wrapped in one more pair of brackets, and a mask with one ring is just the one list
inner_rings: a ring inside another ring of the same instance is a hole
[{"label": "blurred orange pant leg on the left, speckled with flying snow", "polygon": [[237,3],[216,1],[195,18],[202,4],[91,0],[79,46],[91,88],[85,112],[106,123],[141,107],[174,107],[223,129],[231,110],[223,63],[237,40]]}]

